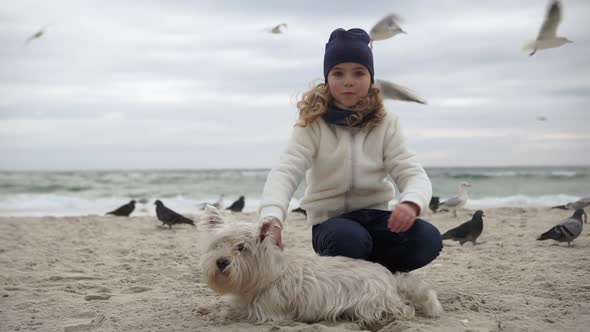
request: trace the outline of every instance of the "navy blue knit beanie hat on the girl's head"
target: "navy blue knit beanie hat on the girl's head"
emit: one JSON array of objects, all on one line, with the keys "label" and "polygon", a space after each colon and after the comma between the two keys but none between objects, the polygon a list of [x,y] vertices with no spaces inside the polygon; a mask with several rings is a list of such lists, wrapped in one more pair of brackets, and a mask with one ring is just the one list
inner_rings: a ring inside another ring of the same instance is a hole
[{"label": "navy blue knit beanie hat on the girl's head", "polygon": [[373,52],[369,43],[371,37],[363,29],[353,28],[348,31],[338,28],[330,34],[324,53],[324,79],[328,82],[328,72],[335,65],[343,62],[356,62],[367,67],[374,82]]}]

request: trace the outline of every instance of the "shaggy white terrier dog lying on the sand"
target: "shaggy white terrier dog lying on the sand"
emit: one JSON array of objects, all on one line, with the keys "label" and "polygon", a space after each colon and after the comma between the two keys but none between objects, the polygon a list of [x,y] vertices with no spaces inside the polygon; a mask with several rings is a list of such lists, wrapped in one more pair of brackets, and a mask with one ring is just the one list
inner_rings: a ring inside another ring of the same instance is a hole
[{"label": "shaggy white terrier dog lying on the sand", "polygon": [[407,273],[347,257],[281,250],[268,225],[237,222],[212,235],[201,267],[208,286],[255,322],[347,319],[361,326],[442,312],[436,292]]}]

